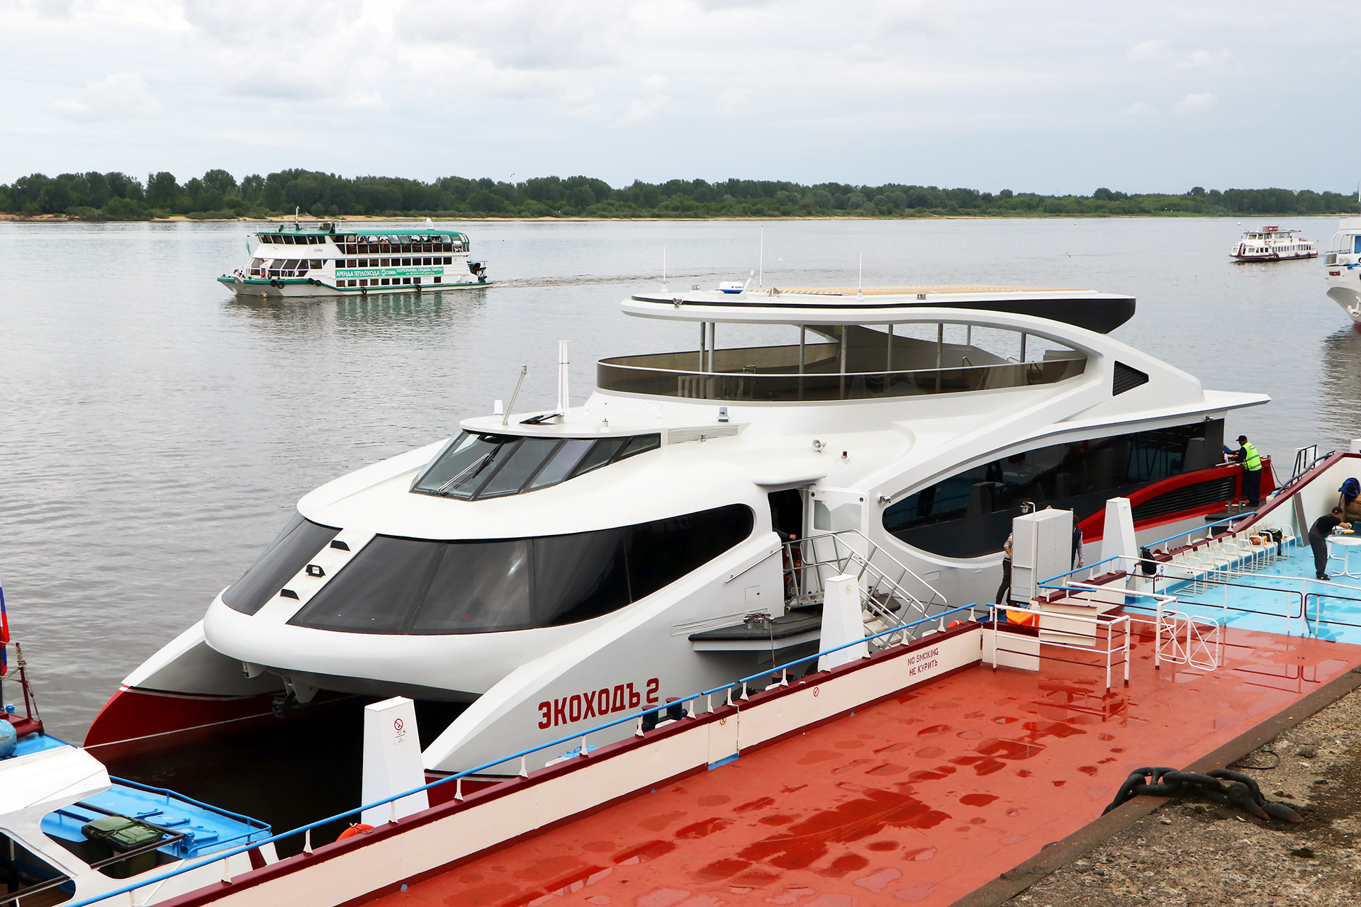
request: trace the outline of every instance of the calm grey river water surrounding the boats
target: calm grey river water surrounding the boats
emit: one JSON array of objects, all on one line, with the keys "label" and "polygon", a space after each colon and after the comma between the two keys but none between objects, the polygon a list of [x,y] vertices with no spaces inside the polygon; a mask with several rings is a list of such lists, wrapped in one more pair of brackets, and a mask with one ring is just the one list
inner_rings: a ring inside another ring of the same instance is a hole
[{"label": "calm grey river water surrounding the boats", "polygon": [[[1301,219],[1327,243],[1335,220]],[[450,434],[506,398],[573,400],[606,355],[693,348],[618,313],[630,288],[1011,283],[1139,299],[1115,336],[1271,394],[1230,419],[1289,473],[1296,447],[1361,434],[1361,336],[1322,260],[1234,265],[1232,219],[457,224],[497,287],[237,301],[240,223],[0,223],[0,581],[49,729],[79,740],[132,668],[197,620],[344,472]],[[762,245],[764,230],[764,245]],[[720,329],[720,345],[723,343]],[[12,688],[7,692],[12,692]]]}]

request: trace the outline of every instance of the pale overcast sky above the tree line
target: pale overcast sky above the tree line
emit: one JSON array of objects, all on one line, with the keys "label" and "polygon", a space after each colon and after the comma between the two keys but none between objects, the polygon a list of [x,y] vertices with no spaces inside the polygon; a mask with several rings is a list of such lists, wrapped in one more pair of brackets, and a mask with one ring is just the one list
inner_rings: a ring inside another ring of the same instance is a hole
[{"label": "pale overcast sky above the tree line", "polygon": [[1350,192],[1358,26],[1342,0],[0,0],[0,182]]}]

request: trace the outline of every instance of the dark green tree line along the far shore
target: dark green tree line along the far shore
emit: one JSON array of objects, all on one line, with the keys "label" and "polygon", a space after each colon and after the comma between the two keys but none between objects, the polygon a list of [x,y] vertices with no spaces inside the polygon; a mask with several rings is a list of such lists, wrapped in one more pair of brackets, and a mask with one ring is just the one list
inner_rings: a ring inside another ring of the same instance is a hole
[{"label": "dark green tree line along the far shore", "polygon": [[979,192],[885,184],[802,185],[772,179],[634,181],[615,189],[592,177],[536,177],[523,182],[444,177],[338,177],[310,170],[250,174],[240,182],[210,170],[181,184],[170,173],[146,181],[124,173],[35,173],[0,184],[0,211],[65,215],[82,220],[268,218],[302,213],[430,218],[925,218],[925,216],[1117,216],[1335,215],[1357,211],[1339,192],[1203,189],[1181,194],[1097,189],[1090,196]]}]

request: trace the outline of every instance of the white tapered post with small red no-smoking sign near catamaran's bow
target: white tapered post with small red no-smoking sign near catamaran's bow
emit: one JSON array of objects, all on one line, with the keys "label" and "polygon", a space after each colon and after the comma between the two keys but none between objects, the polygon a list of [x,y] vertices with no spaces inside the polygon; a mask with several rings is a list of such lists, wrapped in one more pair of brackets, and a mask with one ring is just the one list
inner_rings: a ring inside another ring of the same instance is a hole
[{"label": "white tapered post with small red no-smoking sign near catamaran's bow", "polygon": [[[363,787],[361,802],[414,790],[425,785],[421,764],[421,736],[416,733],[416,704],[406,696],[376,702],[363,710]],[[395,804],[365,809],[365,825],[381,825],[430,808],[426,791],[403,797]]]}]

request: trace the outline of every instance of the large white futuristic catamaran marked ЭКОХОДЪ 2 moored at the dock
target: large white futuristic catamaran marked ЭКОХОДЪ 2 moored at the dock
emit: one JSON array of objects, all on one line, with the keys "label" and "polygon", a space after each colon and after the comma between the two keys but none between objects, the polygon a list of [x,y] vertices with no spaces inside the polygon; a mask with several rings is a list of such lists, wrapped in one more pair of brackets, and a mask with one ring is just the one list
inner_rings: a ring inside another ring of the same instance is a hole
[{"label": "large white futuristic catamaran marked \u042d\u041a\u041e\u0425\u041e\u0414\u042a 2 moored at the dock", "polygon": [[1267,397],[1079,326],[1109,330],[1134,303],[632,295],[625,314],[700,328],[698,347],[602,359],[578,407],[559,371],[554,409],[468,417],[304,496],[86,742],[268,722],[279,698],[407,695],[471,703],[425,749],[453,771],[815,651],[825,568],[862,578],[883,630],[994,601],[1028,509],[1074,510],[1089,545],[1112,496],[1141,538],[1203,525],[1241,498],[1225,419]]}]

